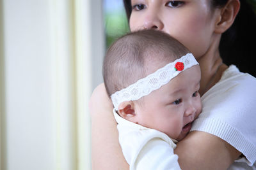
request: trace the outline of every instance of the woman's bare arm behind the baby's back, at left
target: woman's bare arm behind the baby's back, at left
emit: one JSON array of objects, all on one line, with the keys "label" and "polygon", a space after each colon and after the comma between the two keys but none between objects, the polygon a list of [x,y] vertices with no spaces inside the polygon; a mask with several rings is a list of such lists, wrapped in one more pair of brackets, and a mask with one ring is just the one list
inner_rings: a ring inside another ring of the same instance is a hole
[{"label": "woman's bare arm behind the baby's back, at left", "polygon": [[103,83],[93,91],[89,107],[92,118],[93,169],[129,169],[118,142],[113,105]]}]

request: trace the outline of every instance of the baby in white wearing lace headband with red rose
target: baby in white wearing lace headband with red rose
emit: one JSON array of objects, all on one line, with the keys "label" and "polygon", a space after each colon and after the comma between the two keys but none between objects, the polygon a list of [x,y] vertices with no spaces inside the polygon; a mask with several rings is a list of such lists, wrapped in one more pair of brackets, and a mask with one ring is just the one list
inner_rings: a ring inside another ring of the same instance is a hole
[{"label": "baby in white wearing lace headband with red rose", "polygon": [[180,169],[175,143],[202,110],[200,67],[179,41],[144,30],[117,39],[103,76],[130,169]]}]

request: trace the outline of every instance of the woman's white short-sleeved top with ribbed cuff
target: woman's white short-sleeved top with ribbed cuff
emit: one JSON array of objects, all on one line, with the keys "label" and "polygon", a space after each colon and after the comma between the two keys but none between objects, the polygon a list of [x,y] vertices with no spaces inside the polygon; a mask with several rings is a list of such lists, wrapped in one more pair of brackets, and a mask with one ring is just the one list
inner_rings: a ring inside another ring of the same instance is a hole
[{"label": "woman's white short-sleeved top with ribbed cuff", "polygon": [[[230,169],[253,166],[256,160],[256,78],[230,66],[202,96],[202,113],[191,131],[204,131],[230,143],[246,159]],[[247,165],[245,164],[247,163]],[[241,166],[242,165],[242,166]],[[255,169],[255,165],[253,166]],[[250,167],[254,169],[253,167]]]}]

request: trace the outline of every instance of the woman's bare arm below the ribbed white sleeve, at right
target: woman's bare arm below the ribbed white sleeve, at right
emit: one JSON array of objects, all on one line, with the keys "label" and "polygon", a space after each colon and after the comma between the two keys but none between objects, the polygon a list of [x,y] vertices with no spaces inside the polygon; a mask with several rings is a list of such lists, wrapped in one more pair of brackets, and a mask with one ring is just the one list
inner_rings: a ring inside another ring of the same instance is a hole
[{"label": "woman's bare arm below the ribbed white sleeve, at right", "polygon": [[177,144],[181,169],[227,169],[241,155],[223,139],[193,131]]}]

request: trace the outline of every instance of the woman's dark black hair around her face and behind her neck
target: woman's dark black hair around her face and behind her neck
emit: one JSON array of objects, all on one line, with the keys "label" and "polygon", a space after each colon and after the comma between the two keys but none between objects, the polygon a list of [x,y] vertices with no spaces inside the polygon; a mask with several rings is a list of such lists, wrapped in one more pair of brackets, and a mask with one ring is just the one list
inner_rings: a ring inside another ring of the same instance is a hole
[{"label": "woman's dark black hair around her face and behind her neck", "polygon": [[[252,0],[251,0],[252,1]],[[228,0],[211,0],[213,8],[220,8]],[[256,39],[256,15],[253,5],[248,0],[241,0],[241,7],[234,24],[222,34],[220,41],[220,55],[227,65],[234,64],[240,71],[250,73],[256,77],[254,60]],[[131,0],[124,0],[127,18],[131,16]],[[255,7],[255,6],[254,6]]]}]

